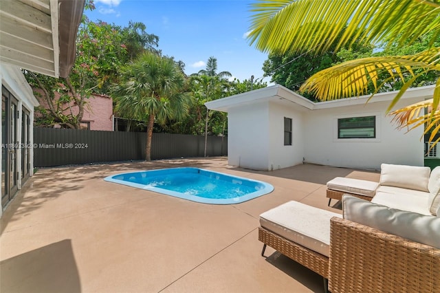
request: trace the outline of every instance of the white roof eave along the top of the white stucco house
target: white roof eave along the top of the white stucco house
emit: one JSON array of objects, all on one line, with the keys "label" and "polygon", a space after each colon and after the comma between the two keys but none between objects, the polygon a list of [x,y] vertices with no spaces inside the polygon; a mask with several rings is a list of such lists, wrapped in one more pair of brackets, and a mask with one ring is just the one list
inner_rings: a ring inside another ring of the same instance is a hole
[{"label": "white roof eave along the top of the white stucco house", "polygon": [[[401,99],[407,98],[432,98],[434,94],[435,85],[428,85],[426,87],[415,87],[407,89]],[[228,112],[230,109],[236,107],[243,107],[245,105],[254,104],[256,102],[274,102],[285,107],[293,107],[298,111],[311,111],[318,109],[329,109],[336,107],[347,107],[350,105],[364,105],[369,103],[390,101],[395,98],[398,91],[389,91],[386,93],[375,94],[373,98],[371,95],[360,96],[355,98],[342,98],[338,100],[329,100],[325,102],[312,102],[304,98],[300,94],[283,87],[282,85],[272,85],[263,89],[256,89],[248,91],[243,94],[221,98],[206,102],[205,105],[210,110],[217,110]],[[369,100],[371,98],[371,100]]]}]

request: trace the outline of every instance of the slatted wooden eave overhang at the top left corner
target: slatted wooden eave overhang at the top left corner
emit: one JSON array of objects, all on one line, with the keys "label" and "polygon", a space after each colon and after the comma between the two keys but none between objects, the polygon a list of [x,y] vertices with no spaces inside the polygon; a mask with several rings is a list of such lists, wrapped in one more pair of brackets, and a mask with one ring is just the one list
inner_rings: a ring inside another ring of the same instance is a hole
[{"label": "slatted wooden eave overhang at the top left corner", "polygon": [[0,6],[0,61],[67,77],[85,0],[14,0]]}]

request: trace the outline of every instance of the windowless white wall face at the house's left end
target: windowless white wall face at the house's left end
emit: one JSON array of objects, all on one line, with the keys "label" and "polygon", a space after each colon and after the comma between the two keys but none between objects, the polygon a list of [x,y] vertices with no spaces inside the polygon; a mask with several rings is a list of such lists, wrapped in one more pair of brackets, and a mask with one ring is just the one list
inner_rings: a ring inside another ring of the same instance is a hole
[{"label": "windowless white wall face at the house's left end", "polygon": [[228,164],[267,170],[269,125],[267,102],[231,109],[228,112]]}]

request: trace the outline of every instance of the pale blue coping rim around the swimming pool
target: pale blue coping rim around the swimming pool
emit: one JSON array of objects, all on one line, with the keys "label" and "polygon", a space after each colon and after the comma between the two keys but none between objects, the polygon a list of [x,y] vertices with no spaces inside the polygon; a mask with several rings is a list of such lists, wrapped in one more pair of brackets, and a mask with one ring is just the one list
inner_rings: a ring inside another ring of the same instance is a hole
[{"label": "pale blue coping rim around the swimming pool", "polygon": [[[197,169],[199,171],[220,174],[222,176],[231,177],[234,179],[245,180],[248,182],[257,182],[259,184],[262,184],[264,187],[259,189],[258,191],[254,191],[253,193],[248,193],[247,195],[241,195],[239,197],[232,197],[232,198],[228,198],[228,199],[213,199],[213,198],[207,198],[207,197],[200,197],[197,195],[188,195],[188,194],[180,193],[177,191],[170,191],[169,189],[165,189],[165,188],[159,188],[159,187],[155,187],[155,186],[144,185],[144,184],[129,182],[129,181],[125,181],[125,180],[118,180],[118,179],[114,178],[115,176],[119,176],[119,175],[123,175],[123,174],[132,174],[132,173],[140,173],[140,172],[147,172],[147,173],[156,172],[157,173],[157,171],[166,171],[166,170],[175,171],[178,169]],[[116,183],[116,184],[122,184],[122,185],[130,186],[133,188],[140,188],[145,191],[153,191],[155,193],[162,193],[164,195],[170,195],[173,197],[178,197],[181,199],[190,200],[191,202],[199,202],[201,204],[240,204],[242,202],[248,202],[251,199],[255,199],[257,197],[267,195],[269,193],[272,193],[272,191],[274,191],[274,186],[272,184],[267,183],[267,182],[263,182],[260,180],[252,180],[252,179],[249,179],[246,177],[240,177],[240,176],[236,176],[236,175],[230,175],[227,173],[221,173],[221,172],[216,172],[216,171],[211,171],[211,170],[201,169],[201,168],[195,168],[195,167],[178,167],[178,168],[164,168],[164,169],[124,172],[124,173],[118,173],[118,174],[113,174],[113,175],[107,176],[104,178],[104,181],[112,182],[112,183]]]}]

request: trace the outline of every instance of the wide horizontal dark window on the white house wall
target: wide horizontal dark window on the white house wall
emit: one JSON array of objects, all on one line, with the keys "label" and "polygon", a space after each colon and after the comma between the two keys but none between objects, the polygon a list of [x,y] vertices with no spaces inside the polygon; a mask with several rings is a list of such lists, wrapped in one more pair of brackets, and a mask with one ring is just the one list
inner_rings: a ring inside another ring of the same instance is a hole
[{"label": "wide horizontal dark window on the white house wall", "polygon": [[376,138],[376,116],[339,118],[338,138]]}]

